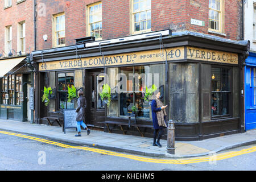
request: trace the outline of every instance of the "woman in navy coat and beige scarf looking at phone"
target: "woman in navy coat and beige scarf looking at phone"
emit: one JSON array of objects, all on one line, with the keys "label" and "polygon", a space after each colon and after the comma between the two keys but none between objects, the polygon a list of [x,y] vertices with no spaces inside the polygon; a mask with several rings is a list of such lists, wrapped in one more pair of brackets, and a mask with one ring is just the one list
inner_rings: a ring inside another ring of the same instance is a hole
[{"label": "woman in navy coat and beige scarf looking at phone", "polygon": [[[152,110],[152,119],[153,119],[153,126],[154,126],[154,142],[153,146],[162,147],[160,144],[160,138],[163,135],[164,128],[167,127],[166,125],[166,106],[163,105],[163,102],[159,99],[160,92],[158,92],[155,96],[153,96],[151,102],[151,110]],[[156,135],[158,134],[158,140],[156,140]]]}]

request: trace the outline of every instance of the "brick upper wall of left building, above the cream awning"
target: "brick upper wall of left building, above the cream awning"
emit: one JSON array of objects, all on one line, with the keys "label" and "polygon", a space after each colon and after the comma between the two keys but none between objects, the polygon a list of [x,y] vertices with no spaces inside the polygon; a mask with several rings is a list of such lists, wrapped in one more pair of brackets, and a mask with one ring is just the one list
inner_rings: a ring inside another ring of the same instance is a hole
[{"label": "brick upper wall of left building, above the cream awning", "polygon": [[[16,4],[12,1],[12,6],[4,9],[5,1],[0,1],[0,51],[5,51],[5,27],[12,26],[12,48],[17,51],[18,23],[23,20],[26,23],[26,53],[34,50],[34,1],[26,0]],[[12,51],[15,55],[16,53]],[[8,52],[6,52],[8,53]]]}]

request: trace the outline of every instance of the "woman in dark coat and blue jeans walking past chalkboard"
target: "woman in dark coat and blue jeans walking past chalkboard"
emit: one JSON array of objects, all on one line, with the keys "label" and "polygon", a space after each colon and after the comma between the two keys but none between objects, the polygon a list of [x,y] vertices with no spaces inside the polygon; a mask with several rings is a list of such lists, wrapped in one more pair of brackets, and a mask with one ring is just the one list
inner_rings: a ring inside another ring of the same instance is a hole
[{"label": "woman in dark coat and blue jeans walking past chalkboard", "polygon": [[84,129],[87,130],[87,135],[90,134],[90,129],[85,125],[83,121],[85,121],[85,108],[86,108],[86,99],[83,96],[84,92],[82,90],[79,90],[79,98],[77,100],[77,109],[76,109],[76,121],[77,121],[77,131],[78,134],[75,135],[75,137],[81,137],[81,126],[84,127]]}]

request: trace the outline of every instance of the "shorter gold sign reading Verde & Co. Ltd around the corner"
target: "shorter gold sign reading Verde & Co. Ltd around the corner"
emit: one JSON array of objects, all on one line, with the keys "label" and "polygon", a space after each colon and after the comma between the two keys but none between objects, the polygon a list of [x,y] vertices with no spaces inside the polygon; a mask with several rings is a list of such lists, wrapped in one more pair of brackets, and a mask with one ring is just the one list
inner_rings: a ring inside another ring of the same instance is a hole
[{"label": "shorter gold sign reading Verde & Co. Ltd around the corner", "polygon": [[187,59],[238,64],[238,54],[209,49],[187,47]]}]

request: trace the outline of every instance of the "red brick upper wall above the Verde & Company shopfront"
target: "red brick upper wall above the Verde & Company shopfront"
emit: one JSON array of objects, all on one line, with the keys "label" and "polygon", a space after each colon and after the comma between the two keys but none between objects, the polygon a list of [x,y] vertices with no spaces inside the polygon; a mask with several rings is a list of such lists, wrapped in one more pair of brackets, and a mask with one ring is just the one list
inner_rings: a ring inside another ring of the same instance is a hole
[{"label": "red brick upper wall above the Verde & Company shopfront", "polygon": [[[28,0],[27,0],[28,1]],[[86,5],[97,0],[38,0],[38,13],[45,7],[46,14],[38,15],[37,49],[52,48],[52,15],[65,12],[66,46],[86,36]],[[2,3],[2,2],[1,2]],[[130,35],[131,0],[102,0],[103,39]],[[41,5],[41,6],[40,6]],[[151,0],[151,31],[170,28],[174,31],[208,33],[208,0]],[[241,36],[241,2],[225,0],[225,31],[223,38],[239,40]],[[191,24],[191,18],[202,20],[205,26]],[[2,30],[1,30],[2,31]],[[48,35],[44,42],[43,35]]]}]

